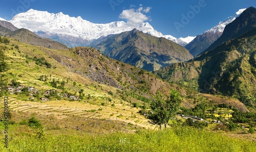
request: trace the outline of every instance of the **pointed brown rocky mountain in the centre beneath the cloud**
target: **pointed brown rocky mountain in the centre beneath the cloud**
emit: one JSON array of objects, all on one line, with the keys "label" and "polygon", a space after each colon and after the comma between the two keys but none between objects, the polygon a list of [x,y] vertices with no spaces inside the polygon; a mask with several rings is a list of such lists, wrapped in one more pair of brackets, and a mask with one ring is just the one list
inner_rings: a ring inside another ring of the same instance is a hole
[{"label": "pointed brown rocky mountain in the centre beneath the cloud", "polygon": [[184,47],[175,42],[136,29],[110,36],[93,47],[106,56],[147,71],[155,71],[193,58]]}]

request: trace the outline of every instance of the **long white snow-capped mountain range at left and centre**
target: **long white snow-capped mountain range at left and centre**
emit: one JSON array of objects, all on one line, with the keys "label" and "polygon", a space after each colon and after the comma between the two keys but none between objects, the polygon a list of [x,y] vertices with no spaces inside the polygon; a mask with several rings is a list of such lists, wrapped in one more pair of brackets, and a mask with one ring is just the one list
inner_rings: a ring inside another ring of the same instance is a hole
[{"label": "long white snow-capped mountain range at left and centre", "polygon": [[[131,31],[134,28],[156,37],[165,37],[184,46],[187,41],[173,36],[165,36],[156,31],[150,24],[142,23],[136,27],[124,21],[114,21],[108,24],[94,24],[78,17],[70,17],[62,12],[57,14],[47,11],[30,9],[15,15],[10,22],[17,28],[26,28],[41,37],[52,38],[69,47],[88,46],[95,39],[111,34]],[[170,37],[170,38],[169,38]]]}]

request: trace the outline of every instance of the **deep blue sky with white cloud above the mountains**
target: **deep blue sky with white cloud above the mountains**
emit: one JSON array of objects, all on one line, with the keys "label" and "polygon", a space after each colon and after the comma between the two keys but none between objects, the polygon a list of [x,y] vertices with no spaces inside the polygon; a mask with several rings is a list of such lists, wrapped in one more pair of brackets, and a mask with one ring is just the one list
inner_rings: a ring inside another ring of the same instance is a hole
[{"label": "deep blue sky with white cloud above the mountains", "polygon": [[[164,35],[196,36],[255,0],[0,0],[0,17],[29,9],[81,16],[92,23],[148,22]],[[184,17],[185,16],[185,17]],[[186,18],[186,19],[184,19]]]}]

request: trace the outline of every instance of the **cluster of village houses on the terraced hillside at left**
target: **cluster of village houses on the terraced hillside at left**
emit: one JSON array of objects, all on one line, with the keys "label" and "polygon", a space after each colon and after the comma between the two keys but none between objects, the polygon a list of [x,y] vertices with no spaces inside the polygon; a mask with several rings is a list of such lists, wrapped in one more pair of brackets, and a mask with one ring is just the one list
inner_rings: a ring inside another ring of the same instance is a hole
[{"label": "cluster of village houses on the terraced hillside at left", "polygon": [[[12,94],[14,94],[14,93],[19,93],[19,92],[22,92],[22,89],[23,88],[25,88],[25,86],[24,85],[19,85],[18,87],[12,87],[12,86],[9,86],[8,88],[7,88],[7,90],[9,91],[9,93],[12,95]],[[28,88],[28,95],[29,96],[34,96],[37,92],[38,92],[38,90],[37,89],[34,89],[33,87],[30,87],[30,86],[27,86],[26,88]],[[51,92],[57,92],[57,90],[47,90],[47,91],[45,91],[44,92],[44,95],[45,96],[47,96],[47,95],[50,95],[50,93]],[[60,94],[58,93],[57,94],[58,96],[60,96]],[[70,98],[70,99],[74,99],[74,100],[78,100],[79,99],[79,97],[76,97],[76,96],[68,96],[68,94],[63,94],[62,96],[61,96],[62,98]],[[29,98],[29,100],[32,100],[32,99],[34,99],[34,97],[30,97]],[[49,99],[47,98],[47,97],[42,97],[42,98],[40,98],[41,99],[41,101],[49,101]]]}]

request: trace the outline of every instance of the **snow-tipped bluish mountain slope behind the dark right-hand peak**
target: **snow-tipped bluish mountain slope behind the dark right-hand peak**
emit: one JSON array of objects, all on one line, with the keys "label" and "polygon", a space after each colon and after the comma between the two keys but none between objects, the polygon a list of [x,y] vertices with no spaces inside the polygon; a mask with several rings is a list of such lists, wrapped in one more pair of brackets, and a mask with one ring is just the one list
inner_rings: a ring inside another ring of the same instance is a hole
[{"label": "snow-tipped bluish mountain slope behind the dark right-hand peak", "polygon": [[231,17],[228,17],[226,20],[221,21],[217,26],[205,31],[203,34],[197,35],[195,39],[190,41],[185,48],[196,57],[207,49],[211,44],[213,44],[223,33],[226,25],[231,23],[234,19],[239,17],[239,15],[245,9],[240,9],[236,14]]}]

